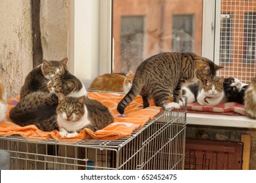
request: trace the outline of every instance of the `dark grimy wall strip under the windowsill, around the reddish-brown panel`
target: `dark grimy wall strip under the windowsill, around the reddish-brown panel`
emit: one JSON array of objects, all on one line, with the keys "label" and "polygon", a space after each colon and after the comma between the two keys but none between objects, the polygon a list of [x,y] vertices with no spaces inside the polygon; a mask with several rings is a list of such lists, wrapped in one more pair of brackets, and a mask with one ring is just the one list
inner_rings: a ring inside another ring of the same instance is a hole
[{"label": "dark grimy wall strip under the windowsill, around the reddish-brown panel", "polygon": [[192,139],[241,142],[241,135],[251,135],[251,156],[249,169],[256,170],[256,129],[210,127],[202,125],[187,126],[187,138]]}]

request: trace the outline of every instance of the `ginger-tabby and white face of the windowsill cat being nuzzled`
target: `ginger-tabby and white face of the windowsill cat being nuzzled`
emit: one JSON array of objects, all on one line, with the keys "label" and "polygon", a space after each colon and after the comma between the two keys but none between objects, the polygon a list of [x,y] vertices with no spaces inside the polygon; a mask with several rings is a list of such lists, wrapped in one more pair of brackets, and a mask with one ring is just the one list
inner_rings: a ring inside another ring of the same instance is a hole
[{"label": "ginger-tabby and white face of the windowsill cat being nuzzled", "polygon": [[208,80],[206,85],[204,86],[204,92],[209,97],[218,97],[223,92],[223,82],[224,78],[217,77],[213,78],[212,80]]}]

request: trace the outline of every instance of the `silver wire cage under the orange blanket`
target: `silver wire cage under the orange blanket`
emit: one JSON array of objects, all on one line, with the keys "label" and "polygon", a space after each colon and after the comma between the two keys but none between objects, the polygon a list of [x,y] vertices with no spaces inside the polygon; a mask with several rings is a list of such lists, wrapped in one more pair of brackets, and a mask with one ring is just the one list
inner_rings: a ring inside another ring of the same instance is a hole
[{"label": "silver wire cage under the orange blanket", "polygon": [[[187,101],[187,99],[185,98]],[[184,169],[187,105],[161,110],[153,120],[123,139],[54,139],[0,136],[10,154],[10,169]]]}]

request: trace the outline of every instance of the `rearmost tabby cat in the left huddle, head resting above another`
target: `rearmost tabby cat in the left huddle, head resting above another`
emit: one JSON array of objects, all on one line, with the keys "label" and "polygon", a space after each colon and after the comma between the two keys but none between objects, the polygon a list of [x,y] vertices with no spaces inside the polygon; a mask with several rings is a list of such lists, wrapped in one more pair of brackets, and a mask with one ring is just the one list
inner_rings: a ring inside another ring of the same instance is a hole
[{"label": "rearmost tabby cat in the left huddle, head resting above another", "polygon": [[43,63],[26,76],[24,85],[20,90],[20,98],[22,99],[32,92],[49,92],[48,81],[57,73],[63,73],[64,69],[67,71],[67,58],[61,61],[46,61],[46,59],[43,59]]}]

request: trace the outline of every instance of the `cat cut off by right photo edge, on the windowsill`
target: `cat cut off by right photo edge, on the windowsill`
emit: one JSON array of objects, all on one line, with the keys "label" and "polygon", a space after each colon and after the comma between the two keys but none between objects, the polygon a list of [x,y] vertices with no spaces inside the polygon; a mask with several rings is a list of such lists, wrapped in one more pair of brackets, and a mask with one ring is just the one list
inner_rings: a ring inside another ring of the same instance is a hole
[{"label": "cat cut off by right photo edge, on the windowsill", "polygon": [[244,97],[244,108],[248,118],[256,119],[256,78],[252,78]]}]

